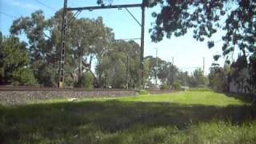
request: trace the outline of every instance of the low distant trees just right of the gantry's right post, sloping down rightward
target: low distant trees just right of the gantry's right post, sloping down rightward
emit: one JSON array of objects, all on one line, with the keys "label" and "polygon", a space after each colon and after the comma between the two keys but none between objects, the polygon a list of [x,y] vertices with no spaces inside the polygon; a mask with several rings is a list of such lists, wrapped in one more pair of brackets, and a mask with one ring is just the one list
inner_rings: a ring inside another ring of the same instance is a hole
[{"label": "low distant trees just right of the gantry's right post, sloping down rightward", "polygon": [[[191,74],[187,71],[179,70],[171,62],[166,62],[161,58],[148,56],[145,58],[149,62],[150,74],[147,79],[147,86],[154,87],[156,83],[161,83],[161,89],[182,89],[186,87],[205,87],[208,85],[208,78],[201,68],[195,69]],[[160,82],[156,82],[156,80]]]}]

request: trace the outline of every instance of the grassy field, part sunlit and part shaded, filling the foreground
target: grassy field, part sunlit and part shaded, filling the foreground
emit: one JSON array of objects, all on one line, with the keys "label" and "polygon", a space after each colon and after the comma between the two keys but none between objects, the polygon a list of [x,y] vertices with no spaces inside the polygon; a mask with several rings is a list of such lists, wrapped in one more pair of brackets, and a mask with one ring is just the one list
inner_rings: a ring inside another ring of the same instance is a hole
[{"label": "grassy field, part sunlit and part shaded, filling the foreground", "polygon": [[211,91],[0,106],[0,143],[256,143],[256,106]]}]

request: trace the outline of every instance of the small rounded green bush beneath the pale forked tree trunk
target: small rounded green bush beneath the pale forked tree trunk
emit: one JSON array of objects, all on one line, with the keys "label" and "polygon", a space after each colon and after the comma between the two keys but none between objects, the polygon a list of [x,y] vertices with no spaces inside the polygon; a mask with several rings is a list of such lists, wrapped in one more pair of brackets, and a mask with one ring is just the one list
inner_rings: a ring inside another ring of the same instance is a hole
[{"label": "small rounded green bush beneath the pale forked tree trunk", "polygon": [[92,89],[94,87],[94,76],[90,72],[86,72],[78,79],[76,87]]}]

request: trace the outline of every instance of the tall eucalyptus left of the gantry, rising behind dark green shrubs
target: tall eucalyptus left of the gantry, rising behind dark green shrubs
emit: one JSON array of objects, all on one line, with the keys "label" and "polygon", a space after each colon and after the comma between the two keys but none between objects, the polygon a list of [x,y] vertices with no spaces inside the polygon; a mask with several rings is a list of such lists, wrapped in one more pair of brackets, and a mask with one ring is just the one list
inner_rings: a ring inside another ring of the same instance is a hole
[{"label": "tall eucalyptus left of the gantry, rising behind dark green shrubs", "polygon": [[[21,17],[14,20],[13,25],[10,27],[10,33],[16,36],[26,35],[29,44],[30,62],[38,82],[52,86],[54,85],[54,82],[51,81],[52,78],[48,78],[48,76],[47,78],[42,78],[42,75],[49,74],[45,70],[46,67],[52,66],[47,62],[51,59],[52,46],[50,46],[50,35],[46,32],[46,25],[47,22],[42,10],[38,10],[32,13],[30,17]],[[45,72],[46,74],[42,74]],[[51,72],[49,75],[53,75]]]}]

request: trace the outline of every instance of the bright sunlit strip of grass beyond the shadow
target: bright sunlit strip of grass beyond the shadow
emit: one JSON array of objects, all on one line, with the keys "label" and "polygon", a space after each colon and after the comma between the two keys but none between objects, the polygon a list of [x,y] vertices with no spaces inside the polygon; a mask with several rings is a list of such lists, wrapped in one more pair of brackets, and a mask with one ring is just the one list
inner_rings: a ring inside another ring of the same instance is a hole
[{"label": "bright sunlit strip of grass beyond the shadow", "polygon": [[174,102],[186,105],[229,106],[245,105],[236,98],[227,97],[212,91],[185,91],[173,94],[144,95],[140,97],[120,98],[122,102]]}]

